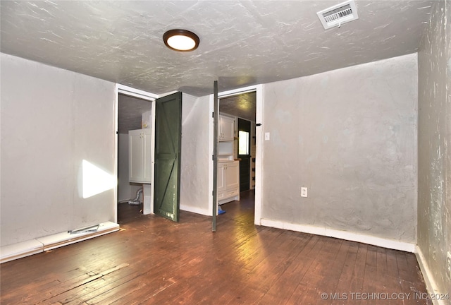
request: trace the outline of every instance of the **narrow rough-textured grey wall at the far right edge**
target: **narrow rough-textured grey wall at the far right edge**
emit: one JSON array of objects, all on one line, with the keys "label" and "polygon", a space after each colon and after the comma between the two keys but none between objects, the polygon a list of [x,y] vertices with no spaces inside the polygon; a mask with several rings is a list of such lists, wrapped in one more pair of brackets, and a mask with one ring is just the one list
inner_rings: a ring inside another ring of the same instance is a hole
[{"label": "narrow rough-textured grey wall at the far right edge", "polygon": [[418,246],[440,292],[451,293],[451,2],[437,1],[431,16],[419,50]]}]

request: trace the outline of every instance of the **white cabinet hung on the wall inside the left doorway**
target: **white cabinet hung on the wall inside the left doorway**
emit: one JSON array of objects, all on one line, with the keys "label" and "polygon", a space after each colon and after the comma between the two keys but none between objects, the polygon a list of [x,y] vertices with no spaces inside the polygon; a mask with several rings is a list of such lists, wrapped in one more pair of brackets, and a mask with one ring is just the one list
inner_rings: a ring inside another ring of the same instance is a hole
[{"label": "white cabinet hung on the wall inside the left doorway", "polygon": [[128,180],[130,182],[151,183],[151,138],[150,128],[128,131]]}]

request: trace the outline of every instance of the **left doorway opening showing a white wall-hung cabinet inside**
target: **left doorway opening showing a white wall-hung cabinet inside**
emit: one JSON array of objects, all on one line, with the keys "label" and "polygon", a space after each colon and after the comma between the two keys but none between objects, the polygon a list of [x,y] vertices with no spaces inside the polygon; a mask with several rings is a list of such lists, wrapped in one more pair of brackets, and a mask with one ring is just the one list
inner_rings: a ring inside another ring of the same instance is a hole
[{"label": "left doorway opening showing a white wall-hung cabinet inside", "polygon": [[[147,137],[147,147],[153,155],[153,124],[154,124],[154,100],[156,95],[123,85],[116,85],[116,210],[117,223],[123,219],[128,222],[137,219],[140,214],[152,213],[149,196],[152,196],[152,157],[148,159],[147,172],[137,172],[134,161],[137,157],[144,157],[131,150],[136,141]],[[139,143],[138,143],[139,144]],[[148,149],[148,150],[149,150]],[[134,169],[135,168],[135,169]],[[139,178],[144,177],[144,178]],[[146,179],[144,181],[143,179]],[[144,204],[144,196],[147,198]],[[133,217],[132,214],[136,214]]]}]

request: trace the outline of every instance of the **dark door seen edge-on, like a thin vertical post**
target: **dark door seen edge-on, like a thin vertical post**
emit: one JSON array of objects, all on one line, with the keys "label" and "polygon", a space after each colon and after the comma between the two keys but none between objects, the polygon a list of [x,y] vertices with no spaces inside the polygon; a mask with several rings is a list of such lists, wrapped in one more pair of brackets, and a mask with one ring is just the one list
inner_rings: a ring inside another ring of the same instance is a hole
[{"label": "dark door seen edge-on, like a thin vertical post", "polygon": [[214,81],[214,107],[213,107],[213,220],[212,232],[216,232],[216,214],[218,210],[218,80]]}]

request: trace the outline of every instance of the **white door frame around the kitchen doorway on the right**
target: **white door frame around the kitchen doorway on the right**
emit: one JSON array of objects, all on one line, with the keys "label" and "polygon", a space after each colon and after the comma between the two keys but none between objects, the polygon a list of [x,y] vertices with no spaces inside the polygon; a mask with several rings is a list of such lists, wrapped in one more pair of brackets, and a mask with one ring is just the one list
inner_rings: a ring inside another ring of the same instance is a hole
[{"label": "white door frame around the kitchen doorway on the right", "polygon": [[[233,95],[240,95],[242,93],[247,92],[256,92],[256,109],[255,109],[255,123],[256,124],[262,124],[263,122],[263,89],[264,85],[252,85],[242,88],[237,88],[233,90],[218,92],[218,99],[221,99],[223,97],[230,97]],[[213,103],[214,103],[214,96],[210,95],[210,109],[212,111],[213,109]],[[263,185],[263,167],[262,167],[262,159],[263,159],[263,127],[256,127],[255,128],[255,145],[256,145],[256,152],[255,152],[255,210],[254,210],[254,224],[255,225],[261,225],[261,186]],[[211,151],[213,152],[214,147],[214,135],[213,135],[213,129],[214,124],[213,120],[211,120],[210,124],[210,144],[209,147],[211,148]],[[213,155],[213,154],[212,154]],[[211,175],[209,181],[209,193],[213,193],[213,160],[210,160],[209,162],[209,173]],[[213,196],[209,196],[209,213],[213,213]],[[217,205],[218,203],[216,203]]]}]

